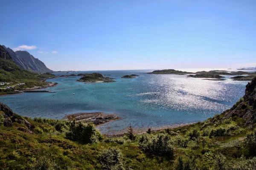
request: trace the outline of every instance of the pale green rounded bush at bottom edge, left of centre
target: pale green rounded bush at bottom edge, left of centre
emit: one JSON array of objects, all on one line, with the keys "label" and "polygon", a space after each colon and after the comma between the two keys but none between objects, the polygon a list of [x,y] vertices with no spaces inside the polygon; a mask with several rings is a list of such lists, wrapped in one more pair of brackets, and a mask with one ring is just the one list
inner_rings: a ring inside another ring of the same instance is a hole
[{"label": "pale green rounded bush at bottom edge, left of centre", "polygon": [[122,164],[122,155],[119,149],[110,147],[104,150],[100,156],[99,161],[103,170],[124,170]]}]

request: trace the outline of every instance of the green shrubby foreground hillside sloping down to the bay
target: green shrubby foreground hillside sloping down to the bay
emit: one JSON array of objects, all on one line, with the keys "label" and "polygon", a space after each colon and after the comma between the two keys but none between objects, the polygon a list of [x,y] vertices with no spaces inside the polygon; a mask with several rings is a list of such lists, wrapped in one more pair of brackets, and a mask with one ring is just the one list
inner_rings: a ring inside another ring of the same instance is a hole
[{"label": "green shrubby foreground hillside sloping down to the bay", "polygon": [[104,138],[91,123],[30,119],[2,103],[0,114],[0,170],[256,169],[256,78],[220,115],[142,135]]}]

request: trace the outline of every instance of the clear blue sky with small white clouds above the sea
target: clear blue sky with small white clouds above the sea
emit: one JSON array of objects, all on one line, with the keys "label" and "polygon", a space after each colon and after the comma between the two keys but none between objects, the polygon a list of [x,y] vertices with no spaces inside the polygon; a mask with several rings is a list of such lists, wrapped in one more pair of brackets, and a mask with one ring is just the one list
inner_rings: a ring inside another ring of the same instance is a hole
[{"label": "clear blue sky with small white clouds above the sea", "polygon": [[0,3],[0,44],[55,71],[256,66],[256,0]]}]

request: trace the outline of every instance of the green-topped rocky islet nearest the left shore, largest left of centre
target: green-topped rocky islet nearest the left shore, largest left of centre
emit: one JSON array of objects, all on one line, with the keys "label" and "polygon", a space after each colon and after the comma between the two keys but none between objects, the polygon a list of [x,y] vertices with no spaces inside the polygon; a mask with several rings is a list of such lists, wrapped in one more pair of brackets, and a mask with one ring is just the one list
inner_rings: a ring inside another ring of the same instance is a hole
[{"label": "green-topped rocky islet nearest the left shore, largest left of centre", "polygon": [[116,82],[111,77],[104,77],[102,74],[93,73],[93,74],[84,74],[83,77],[76,80],[79,82]]}]

